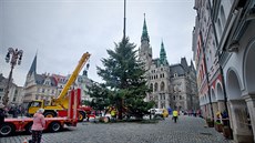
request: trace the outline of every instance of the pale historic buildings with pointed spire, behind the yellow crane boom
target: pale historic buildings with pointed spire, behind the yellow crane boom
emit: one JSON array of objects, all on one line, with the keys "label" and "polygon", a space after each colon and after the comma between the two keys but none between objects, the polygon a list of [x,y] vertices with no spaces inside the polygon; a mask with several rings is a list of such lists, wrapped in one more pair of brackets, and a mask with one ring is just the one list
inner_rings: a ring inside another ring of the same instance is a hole
[{"label": "pale historic buildings with pointed spire, behind the yellow crane boom", "polygon": [[[88,86],[92,84],[92,81],[86,75],[86,70],[82,75],[78,75],[75,82],[71,88],[82,89],[82,100],[91,100],[88,93]],[[23,103],[31,102],[33,100],[50,101],[51,98],[58,98],[65,83],[71,75],[59,74],[38,74],[37,73],[37,55],[33,59],[32,65],[27,74],[24,84]]]}]

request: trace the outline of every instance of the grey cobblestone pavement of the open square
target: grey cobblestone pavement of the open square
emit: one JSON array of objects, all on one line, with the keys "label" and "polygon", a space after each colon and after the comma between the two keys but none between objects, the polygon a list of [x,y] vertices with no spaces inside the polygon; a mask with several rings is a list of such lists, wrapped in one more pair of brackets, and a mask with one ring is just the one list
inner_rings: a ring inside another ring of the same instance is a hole
[{"label": "grey cobblestone pavement of the open square", "polygon": [[[200,118],[171,118],[159,123],[79,123],[58,133],[43,133],[42,143],[234,143],[225,140],[214,127],[204,127]],[[1,137],[0,143],[22,143],[31,135]]]}]

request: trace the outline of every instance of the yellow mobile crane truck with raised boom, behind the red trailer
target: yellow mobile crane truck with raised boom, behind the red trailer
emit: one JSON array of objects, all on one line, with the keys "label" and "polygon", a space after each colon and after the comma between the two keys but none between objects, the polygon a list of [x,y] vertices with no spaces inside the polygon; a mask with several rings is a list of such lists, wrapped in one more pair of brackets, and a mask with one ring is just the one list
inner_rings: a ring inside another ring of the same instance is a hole
[{"label": "yellow mobile crane truck with raised boom, behind the red trailer", "polygon": [[[51,99],[50,103],[47,104],[44,100],[34,100],[28,104],[28,115],[32,116],[39,109],[44,109],[44,116],[45,118],[54,118],[54,116],[67,116],[68,109],[69,109],[69,96],[67,95],[69,89],[71,88],[72,83],[76,80],[79,72],[84,67],[86,61],[90,58],[90,53],[86,52],[80,59],[76,68],[72,72],[71,76],[69,78],[68,82],[65,83],[63,90],[61,91],[60,95],[57,99]],[[86,118],[86,112],[91,111],[90,106],[82,106],[78,108],[79,118],[78,120],[81,122],[83,119]]]}]

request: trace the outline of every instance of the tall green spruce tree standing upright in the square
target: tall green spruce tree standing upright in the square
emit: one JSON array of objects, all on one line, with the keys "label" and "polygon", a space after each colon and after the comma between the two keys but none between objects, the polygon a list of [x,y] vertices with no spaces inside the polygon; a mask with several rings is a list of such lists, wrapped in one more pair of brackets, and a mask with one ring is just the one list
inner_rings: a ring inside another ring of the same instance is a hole
[{"label": "tall green spruce tree standing upright in the square", "polygon": [[115,49],[106,50],[109,58],[102,59],[104,69],[96,67],[98,74],[105,81],[105,85],[111,89],[110,100],[118,108],[119,119],[123,113],[142,118],[152,102],[144,102],[146,92],[150,92],[143,63],[137,60],[135,44],[129,42],[129,38],[123,38],[115,43]]}]

